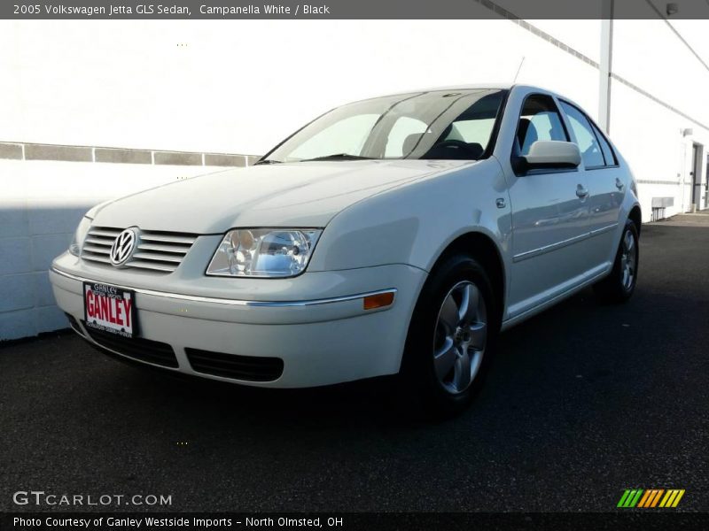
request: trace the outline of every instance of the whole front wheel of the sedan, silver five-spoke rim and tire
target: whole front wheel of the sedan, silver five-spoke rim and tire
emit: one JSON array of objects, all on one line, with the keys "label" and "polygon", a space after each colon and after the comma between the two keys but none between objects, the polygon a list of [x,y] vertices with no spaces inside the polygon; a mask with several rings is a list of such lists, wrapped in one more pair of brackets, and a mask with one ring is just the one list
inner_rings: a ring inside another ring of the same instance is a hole
[{"label": "whole front wheel of the sedan, silver five-spoke rim and tire", "polygon": [[409,327],[404,374],[426,412],[462,412],[478,393],[499,331],[492,285],[479,263],[454,255],[434,270]]}]

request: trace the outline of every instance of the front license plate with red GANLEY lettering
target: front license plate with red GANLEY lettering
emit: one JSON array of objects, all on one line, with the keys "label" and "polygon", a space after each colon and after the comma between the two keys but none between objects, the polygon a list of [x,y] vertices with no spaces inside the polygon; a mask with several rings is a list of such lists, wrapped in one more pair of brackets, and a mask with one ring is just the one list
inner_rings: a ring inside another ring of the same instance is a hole
[{"label": "front license plate with red GANLEY lettering", "polygon": [[86,326],[111,334],[133,337],[136,326],[136,294],[98,282],[83,283],[83,315]]}]

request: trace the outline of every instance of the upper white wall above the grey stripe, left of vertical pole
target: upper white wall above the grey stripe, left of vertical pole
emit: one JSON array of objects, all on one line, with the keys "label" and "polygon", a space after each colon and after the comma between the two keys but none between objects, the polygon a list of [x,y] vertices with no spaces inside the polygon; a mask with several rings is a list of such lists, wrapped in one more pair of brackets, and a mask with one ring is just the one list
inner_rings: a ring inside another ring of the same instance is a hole
[{"label": "upper white wall above the grey stripe, left of vertical pole", "polygon": [[[556,22],[597,55],[597,21]],[[4,20],[0,49],[19,142],[263,153],[333,106],[510,82],[523,57],[519,81],[596,102],[593,69],[508,20]]]}]

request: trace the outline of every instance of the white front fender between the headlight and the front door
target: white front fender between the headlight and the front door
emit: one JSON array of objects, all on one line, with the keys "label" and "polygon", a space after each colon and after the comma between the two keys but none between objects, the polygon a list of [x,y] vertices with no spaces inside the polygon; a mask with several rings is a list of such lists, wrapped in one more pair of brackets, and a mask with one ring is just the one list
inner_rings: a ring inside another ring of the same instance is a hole
[{"label": "white front fender between the headlight and the front door", "polygon": [[308,270],[405,264],[431,271],[448,245],[470,232],[487,235],[503,258],[509,255],[510,199],[494,158],[349,206],[325,227]]}]

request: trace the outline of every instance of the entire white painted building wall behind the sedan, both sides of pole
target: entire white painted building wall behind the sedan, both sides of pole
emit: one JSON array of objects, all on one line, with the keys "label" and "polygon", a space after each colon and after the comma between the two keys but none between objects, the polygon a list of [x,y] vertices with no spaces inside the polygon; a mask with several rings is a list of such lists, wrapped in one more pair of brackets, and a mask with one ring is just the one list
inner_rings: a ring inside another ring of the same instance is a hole
[{"label": "entire white painted building wall behind the sedan, both sides of pole", "polygon": [[[599,21],[531,22],[599,60]],[[673,24],[709,52],[709,22]],[[614,72],[709,123],[709,72],[664,21],[615,21],[614,37]],[[510,20],[3,20],[0,50],[7,142],[263,153],[338,104],[510,82],[522,58],[518,82],[597,116],[596,68]],[[613,81],[611,136],[641,181],[643,219],[653,196],[675,198],[668,214],[689,210],[687,158],[692,142],[709,151],[709,130]],[[204,171],[0,160],[0,339],[64,326],[44,271],[90,204]]]}]

